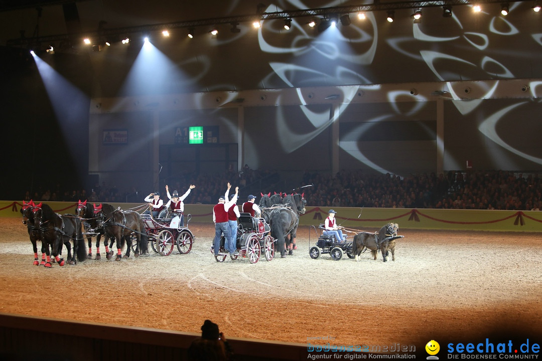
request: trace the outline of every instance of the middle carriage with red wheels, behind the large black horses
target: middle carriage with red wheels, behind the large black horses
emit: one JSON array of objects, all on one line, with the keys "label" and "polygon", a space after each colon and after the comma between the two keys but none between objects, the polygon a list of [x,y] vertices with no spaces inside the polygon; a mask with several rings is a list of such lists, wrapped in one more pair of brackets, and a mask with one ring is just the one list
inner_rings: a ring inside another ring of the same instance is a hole
[{"label": "middle carriage with red wheels, behind the large black horses", "polygon": [[[263,218],[256,218],[250,213],[241,213],[237,218],[238,228],[236,236],[237,254],[230,254],[224,248],[224,236],[220,239],[220,251],[216,260],[225,261],[226,257],[236,260],[238,257],[248,258],[251,264],[260,260],[263,253],[266,260],[270,261],[275,257],[276,240],[269,234],[270,227]],[[211,253],[215,254],[214,245],[211,246]]]}]

